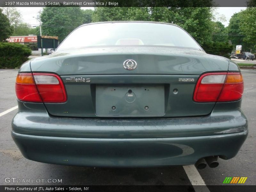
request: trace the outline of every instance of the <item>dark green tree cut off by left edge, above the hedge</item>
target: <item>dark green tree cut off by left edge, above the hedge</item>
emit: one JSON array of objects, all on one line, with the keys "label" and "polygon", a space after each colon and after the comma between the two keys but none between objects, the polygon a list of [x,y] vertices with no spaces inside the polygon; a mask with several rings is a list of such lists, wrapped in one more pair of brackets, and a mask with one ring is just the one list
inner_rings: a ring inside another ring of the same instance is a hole
[{"label": "dark green tree cut off by left edge, above the hedge", "polygon": [[12,34],[12,31],[13,28],[11,27],[8,18],[2,13],[2,9],[0,9],[0,42],[6,41]]}]

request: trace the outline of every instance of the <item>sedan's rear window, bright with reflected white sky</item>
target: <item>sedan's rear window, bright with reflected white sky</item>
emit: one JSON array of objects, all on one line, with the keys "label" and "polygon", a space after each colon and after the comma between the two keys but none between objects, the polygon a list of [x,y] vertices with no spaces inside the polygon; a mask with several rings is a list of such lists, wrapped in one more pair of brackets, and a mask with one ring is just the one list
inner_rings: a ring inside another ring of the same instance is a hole
[{"label": "sedan's rear window, bright with reflected white sky", "polygon": [[155,45],[201,50],[183,29],[168,24],[113,22],[85,25],[74,30],[57,51],[91,46]]}]

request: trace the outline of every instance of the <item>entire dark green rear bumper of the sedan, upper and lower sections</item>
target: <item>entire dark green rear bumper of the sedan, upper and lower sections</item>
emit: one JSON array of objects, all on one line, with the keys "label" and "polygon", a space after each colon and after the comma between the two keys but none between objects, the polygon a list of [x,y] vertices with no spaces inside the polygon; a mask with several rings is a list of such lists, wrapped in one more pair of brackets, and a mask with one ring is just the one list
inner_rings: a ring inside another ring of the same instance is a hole
[{"label": "entire dark green rear bumper of the sedan, upper and lower sections", "polygon": [[49,116],[44,104],[18,102],[12,138],[26,158],[51,164],[141,167],[230,159],[248,134],[236,103],[216,104],[201,117],[68,118]]}]

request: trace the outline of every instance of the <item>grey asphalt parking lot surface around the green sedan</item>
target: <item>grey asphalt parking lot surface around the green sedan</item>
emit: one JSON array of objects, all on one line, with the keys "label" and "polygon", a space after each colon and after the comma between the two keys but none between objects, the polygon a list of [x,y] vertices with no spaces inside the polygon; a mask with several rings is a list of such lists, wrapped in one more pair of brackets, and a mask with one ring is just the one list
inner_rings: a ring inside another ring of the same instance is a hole
[{"label": "grey asphalt parking lot surface around the green sedan", "polygon": [[[155,168],[98,168],[44,164],[24,158],[12,140],[11,120],[18,109],[14,90],[18,70],[0,69],[0,185],[26,185],[5,182],[5,178],[61,179],[62,183],[41,185],[223,185],[226,177],[248,177],[246,185],[256,185],[256,70],[242,69],[244,96],[242,109],[249,121],[249,135],[236,157],[219,159],[217,168],[197,171],[191,166]],[[227,184],[226,184],[227,185]],[[210,189],[210,188],[209,188]],[[210,191],[206,188],[204,191]]]}]

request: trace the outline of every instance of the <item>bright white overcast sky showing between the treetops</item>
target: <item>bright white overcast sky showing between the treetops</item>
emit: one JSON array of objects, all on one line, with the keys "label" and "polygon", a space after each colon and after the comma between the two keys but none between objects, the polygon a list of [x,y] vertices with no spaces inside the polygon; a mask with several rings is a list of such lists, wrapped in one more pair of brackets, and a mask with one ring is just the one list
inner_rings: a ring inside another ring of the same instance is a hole
[{"label": "bright white overcast sky showing between the treetops", "polygon": [[[82,9],[93,9],[93,7],[81,7]],[[38,26],[39,22],[33,18],[36,17],[38,12],[43,9],[43,7],[17,7],[20,11],[23,22],[28,23],[30,26]],[[240,12],[241,10],[246,9],[246,7],[218,7],[214,11],[214,15],[217,18],[216,21],[222,22],[225,27],[228,26],[229,20],[231,16],[236,13]],[[220,20],[220,16],[225,16],[225,20]]]}]

